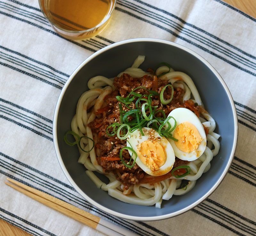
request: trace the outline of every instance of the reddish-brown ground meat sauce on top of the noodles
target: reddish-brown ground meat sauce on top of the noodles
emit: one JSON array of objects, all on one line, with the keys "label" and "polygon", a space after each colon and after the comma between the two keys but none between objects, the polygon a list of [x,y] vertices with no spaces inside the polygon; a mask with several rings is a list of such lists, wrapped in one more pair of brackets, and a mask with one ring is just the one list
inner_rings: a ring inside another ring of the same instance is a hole
[{"label": "reddish-brown ground meat sauce on top of the noodles", "polygon": [[[146,176],[147,174],[136,163],[132,168],[127,168],[121,160],[113,161],[104,159],[104,157],[117,157],[118,159],[120,150],[126,146],[126,140],[120,140],[116,135],[108,136],[106,133],[106,129],[109,125],[115,122],[120,122],[120,102],[117,101],[116,96],[127,97],[133,89],[140,86],[143,86],[148,90],[156,91],[160,94],[163,87],[167,84],[168,81],[160,80],[156,76],[153,76],[152,78],[151,76],[145,75],[141,78],[132,78],[130,75],[124,73],[120,77],[115,77],[113,81],[115,90],[104,98],[102,108],[96,111],[96,119],[88,124],[92,129],[96,153],[98,156],[98,164],[102,166],[103,172],[115,173],[117,180],[121,181],[126,189],[128,189],[132,184],[139,184],[144,175]],[[145,93],[145,89],[139,88],[136,92],[143,94]],[[154,96],[152,97],[151,106],[157,106],[157,110],[163,110],[166,117],[173,109],[178,107],[186,107],[194,111],[199,116],[200,107],[196,106],[192,100],[183,102],[183,94],[184,90],[182,88],[174,88],[173,99],[169,104],[161,104],[159,96]],[[164,91],[164,99],[168,100],[170,97],[171,88],[168,86]],[[133,108],[135,108],[135,104]],[[163,114],[158,112],[157,115],[161,116]],[[131,156],[129,152],[124,150],[123,159],[129,161],[130,158]],[[186,163],[178,159],[177,162],[175,161],[173,168],[185,165]]]}]

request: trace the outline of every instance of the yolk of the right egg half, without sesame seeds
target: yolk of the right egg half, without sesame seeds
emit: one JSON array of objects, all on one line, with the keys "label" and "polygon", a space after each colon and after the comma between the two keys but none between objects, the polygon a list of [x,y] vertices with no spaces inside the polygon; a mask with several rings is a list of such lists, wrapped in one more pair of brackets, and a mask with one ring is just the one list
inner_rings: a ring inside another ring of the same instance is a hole
[{"label": "yolk of the right egg half, without sesame seeds", "polygon": [[186,153],[195,151],[203,140],[196,127],[189,122],[179,124],[174,130],[173,137],[178,139],[175,144],[180,151]]}]

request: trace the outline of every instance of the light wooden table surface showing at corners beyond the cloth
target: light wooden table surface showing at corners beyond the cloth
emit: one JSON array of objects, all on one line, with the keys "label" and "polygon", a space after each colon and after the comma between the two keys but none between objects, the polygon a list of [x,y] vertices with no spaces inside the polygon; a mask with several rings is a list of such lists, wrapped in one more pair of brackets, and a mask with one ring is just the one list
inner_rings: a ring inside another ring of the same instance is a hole
[{"label": "light wooden table surface showing at corners beyond the cloth", "polygon": [[[224,2],[236,7],[246,14],[256,18],[256,4],[255,0],[224,0]],[[10,225],[6,221],[0,219],[0,235],[2,236],[31,236],[31,234]]]}]

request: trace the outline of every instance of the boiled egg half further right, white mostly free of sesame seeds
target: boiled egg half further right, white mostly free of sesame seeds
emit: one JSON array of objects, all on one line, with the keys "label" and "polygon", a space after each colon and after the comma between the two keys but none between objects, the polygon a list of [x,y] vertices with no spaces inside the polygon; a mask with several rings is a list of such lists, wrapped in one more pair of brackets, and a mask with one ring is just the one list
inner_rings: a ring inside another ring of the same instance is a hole
[{"label": "boiled egg half further right, white mostly free of sesame seeds", "polygon": [[[172,116],[177,122],[172,136],[178,142],[168,139],[175,156],[186,161],[196,160],[204,153],[206,147],[206,135],[202,123],[195,113],[183,107],[172,110],[169,116]],[[173,127],[175,122],[170,119],[169,123]]]}]

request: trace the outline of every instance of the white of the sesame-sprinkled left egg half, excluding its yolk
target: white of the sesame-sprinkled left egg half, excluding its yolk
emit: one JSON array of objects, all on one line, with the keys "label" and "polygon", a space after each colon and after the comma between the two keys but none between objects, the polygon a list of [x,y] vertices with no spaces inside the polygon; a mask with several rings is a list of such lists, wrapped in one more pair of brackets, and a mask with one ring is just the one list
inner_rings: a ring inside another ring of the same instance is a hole
[{"label": "white of the sesame-sprinkled left egg half, excluding its yolk", "polygon": [[[141,135],[140,130],[135,130],[134,132],[132,132],[130,134],[130,136],[127,138],[127,147],[132,147],[132,149],[137,153],[137,147],[139,144],[141,144],[142,142],[146,141],[146,140],[150,140],[149,135],[147,135],[147,131],[152,130],[150,128],[144,127],[142,128],[143,133],[145,134],[144,136]],[[154,130],[154,137],[156,137],[156,141],[162,145],[162,147],[164,148],[165,152],[166,152],[166,161],[164,163],[163,166],[159,167],[159,170],[157,171],[152,171],[148,166],[144,165],[142,163],[142,161],[140,160],[139,157],[137,157],[136,159],[136,164],[138,166],[140,166],[140,168],[145,171],[146,173],[148,173],[149,175],[153,175],[153,176],[159,176],[159,175],[164,175],[166,173],[168,173],[174,164],[175,161],[175,155],[174,155],[174,151],[173,148],[171,146],[171,144],[169,143],[169,141],[165,138],[165,137],[161,137],[157,131]],[[160,138],[159,140],[157,138]],[[132,155],[132,152],[129,151],[130,155]],[[132,155],[132,158],[135,159],[135,156]]]}]

